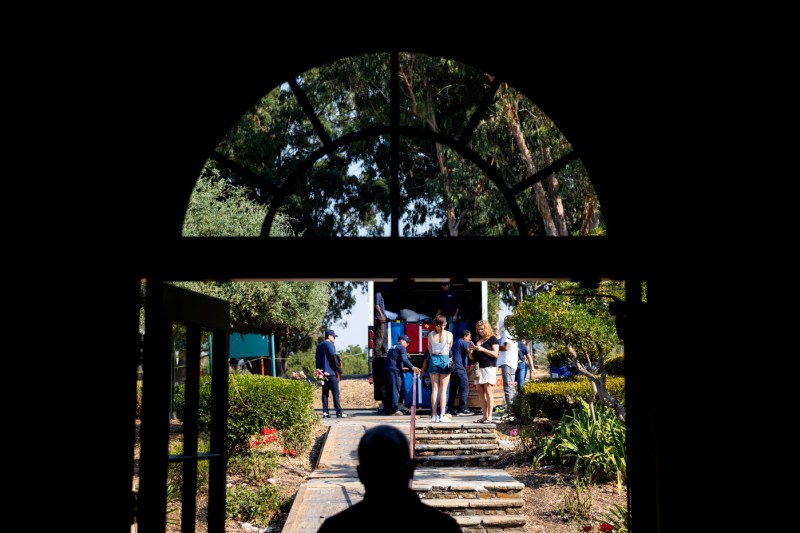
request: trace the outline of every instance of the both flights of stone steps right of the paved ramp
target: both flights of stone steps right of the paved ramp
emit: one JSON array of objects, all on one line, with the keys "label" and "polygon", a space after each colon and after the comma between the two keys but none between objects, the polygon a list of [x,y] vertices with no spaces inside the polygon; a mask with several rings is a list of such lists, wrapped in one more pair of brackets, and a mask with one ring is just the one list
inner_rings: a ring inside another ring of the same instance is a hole
[{"label": "both flights of stone steps right of the paved ramp", "polygon": [[469,533],[523,532],[524,485],[492,468],[500,459],[494,424],[417,423],[413,488]]}]

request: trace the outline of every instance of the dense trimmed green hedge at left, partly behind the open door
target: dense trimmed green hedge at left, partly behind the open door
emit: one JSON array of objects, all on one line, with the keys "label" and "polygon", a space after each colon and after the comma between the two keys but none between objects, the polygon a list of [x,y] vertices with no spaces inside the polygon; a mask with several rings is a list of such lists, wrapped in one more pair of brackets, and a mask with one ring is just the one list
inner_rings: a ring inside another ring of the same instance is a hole
[{"label": "dense trimmed green hedge at left, partly behind the open door", "polygon": [[[199,429],[210,429],[211,378],[200,378]],[[314,386],[304,380],[254,374],[228,376],[228,454],[245,450],[252,435],[276,428],[287,447],[305,450],[313,436],[317,415]],[[176,416],[182,420],[185,387],[175,388]]]}]

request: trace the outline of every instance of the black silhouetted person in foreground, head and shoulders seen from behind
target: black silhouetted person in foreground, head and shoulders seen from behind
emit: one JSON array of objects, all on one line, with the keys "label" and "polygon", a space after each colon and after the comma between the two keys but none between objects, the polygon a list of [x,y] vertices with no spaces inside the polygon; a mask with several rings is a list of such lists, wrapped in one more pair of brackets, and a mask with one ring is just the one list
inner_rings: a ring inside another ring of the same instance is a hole
[{"label": "black silhouetted person in foreground, head and shoulders seen from behind", "polygon": [[388,424],[368,429],[358,442],[356,466],[364,498],[327,517],[318,533],[460,533],[455,518],[424,503],[411,488],[415,466],[400,429]]}]

